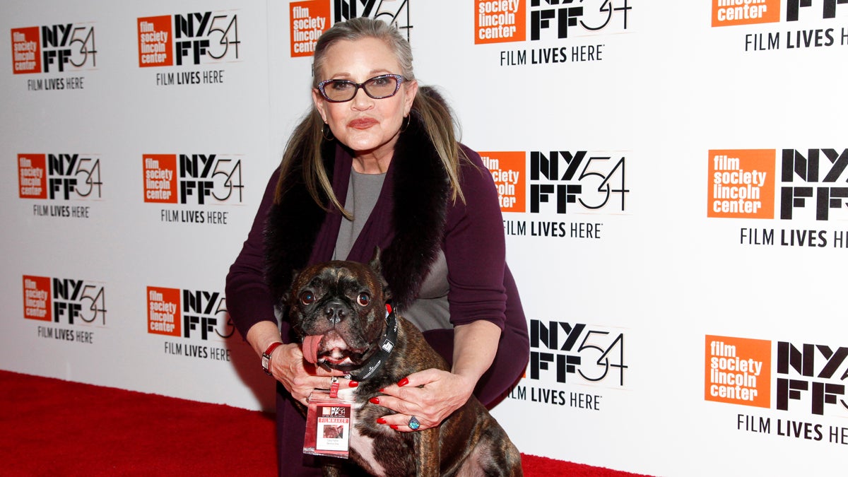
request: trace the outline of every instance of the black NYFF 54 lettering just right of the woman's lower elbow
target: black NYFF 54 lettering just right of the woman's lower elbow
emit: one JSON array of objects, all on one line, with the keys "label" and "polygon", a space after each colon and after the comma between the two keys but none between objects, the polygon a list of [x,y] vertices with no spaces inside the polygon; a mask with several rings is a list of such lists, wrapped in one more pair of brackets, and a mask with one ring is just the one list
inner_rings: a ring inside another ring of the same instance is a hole
[{"label": "black NYFF 54 lettering just right of the woman's lower elbow", "polygon": [[530,320],[529,379],[624,385],[624,334],[583,323]]}]

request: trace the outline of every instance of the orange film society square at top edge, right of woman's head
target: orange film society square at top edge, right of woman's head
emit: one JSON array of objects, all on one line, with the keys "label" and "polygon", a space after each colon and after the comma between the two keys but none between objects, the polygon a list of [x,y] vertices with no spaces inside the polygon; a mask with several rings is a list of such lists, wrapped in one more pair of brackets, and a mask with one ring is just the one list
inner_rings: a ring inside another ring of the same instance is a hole
[{"label": "orange film society square at top edge, right of woman's head", "polygon": [[525,38],[524,0],[474,0],[474,44],[523,42]]}]

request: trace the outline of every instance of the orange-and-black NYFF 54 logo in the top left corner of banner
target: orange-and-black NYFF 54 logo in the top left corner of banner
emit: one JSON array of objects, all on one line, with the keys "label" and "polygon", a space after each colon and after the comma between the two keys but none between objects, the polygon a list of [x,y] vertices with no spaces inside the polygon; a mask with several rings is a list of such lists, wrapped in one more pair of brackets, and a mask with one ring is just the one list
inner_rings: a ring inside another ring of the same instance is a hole
[{"label": "orange-and-black NYFF 54 logo in the top left corner of banner", "polygon": [[62,73],[97,67],[94,26],[66,23],[12,29],[12,71]]}]

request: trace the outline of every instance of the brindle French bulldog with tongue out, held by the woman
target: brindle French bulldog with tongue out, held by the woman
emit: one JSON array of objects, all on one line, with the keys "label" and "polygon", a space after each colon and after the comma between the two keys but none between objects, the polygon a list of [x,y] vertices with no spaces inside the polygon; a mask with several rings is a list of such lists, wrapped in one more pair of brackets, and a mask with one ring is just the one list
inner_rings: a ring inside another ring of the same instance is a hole
[{"label": "brindle French bulldog with tongue out, held by the woman", "polygon": [[[378,390],[423,369],[449,370],[415,325],[387,312],[389,300],[379,250],[368,265],[328,261],[305,268],[286,297],[295,334],[312,339],[304,356],[360,381],[350,457],[374,475],[522,475],[518,449],[474,396],[436,428],[399,432],[377,424],[392,412],[368,401],[381,396]],[[332,476],[339,469],[329,457],[322,470]]]}]

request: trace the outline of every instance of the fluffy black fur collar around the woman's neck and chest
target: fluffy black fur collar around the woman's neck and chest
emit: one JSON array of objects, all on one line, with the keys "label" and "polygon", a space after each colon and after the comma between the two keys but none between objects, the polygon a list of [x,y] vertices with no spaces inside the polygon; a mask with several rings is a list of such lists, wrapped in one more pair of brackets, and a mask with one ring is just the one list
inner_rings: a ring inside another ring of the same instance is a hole
[{"label": "fluffy black fur collar around the woman's neck and chest", "polygon": [[[368,241],[374,244],[360,247],[368,250],[368,255],[361,252],[360,256],[351,256],[352,260],[365,262],[371,259],[374,247],[381,246],[382,273],[400,310],[415,299],[438,256],[450,194],[447,173],[438,154],[416,115],[411,117],[395,145],[383,185],[390,189],[381,194],[369,219],[377,220],[379,233]],[[321,155],[333,188],[343,200],[344,194],[339,192],[347,188],[350,154],[336,141],[325,141]],[[338,235],[336,224],[342,220],[338,210],[327,213],[315,204],[304,185],[299,160],[282,181],[282,198],[271,207],[265,227],[266,280],[276,300],[281,300],[287,291],[293,272],[332,258]]]}]

